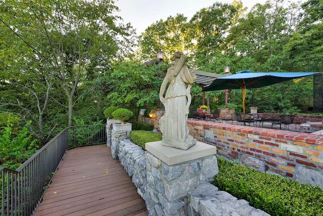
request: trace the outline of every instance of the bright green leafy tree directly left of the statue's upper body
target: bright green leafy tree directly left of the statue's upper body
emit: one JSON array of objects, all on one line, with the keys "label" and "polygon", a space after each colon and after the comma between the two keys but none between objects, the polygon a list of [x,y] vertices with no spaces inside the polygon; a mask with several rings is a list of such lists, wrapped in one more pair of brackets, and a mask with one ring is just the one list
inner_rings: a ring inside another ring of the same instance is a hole
[{"label": "bright green leafy tree directly left of the statue's upper body", "polygon": [[126,62],[113,66],[110,79],[114,80],[114,89],[107,92],[107,99],[112,105],[134,108],[158,105],[158,91],[163,79],[161,74],[167,65],[145,66]]}]

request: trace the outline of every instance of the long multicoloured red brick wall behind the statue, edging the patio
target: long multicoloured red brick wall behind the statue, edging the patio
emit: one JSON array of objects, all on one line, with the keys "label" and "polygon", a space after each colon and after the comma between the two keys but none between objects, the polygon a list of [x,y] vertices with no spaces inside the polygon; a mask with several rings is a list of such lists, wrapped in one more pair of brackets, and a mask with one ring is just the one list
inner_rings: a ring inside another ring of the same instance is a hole
[{"label": "long multicoloured red brick wall behind the statue, edging the patio", "polygon": [[[157,129],[158,120],[156,117],[153,121]],[[198,141],[217,146],[218,154],[229,159],[239,160],[246,154],[263,161],[267,171],[292,179],[299,167],[323,173],[320,135],[209,121],[188,120],[187,124]]]}]

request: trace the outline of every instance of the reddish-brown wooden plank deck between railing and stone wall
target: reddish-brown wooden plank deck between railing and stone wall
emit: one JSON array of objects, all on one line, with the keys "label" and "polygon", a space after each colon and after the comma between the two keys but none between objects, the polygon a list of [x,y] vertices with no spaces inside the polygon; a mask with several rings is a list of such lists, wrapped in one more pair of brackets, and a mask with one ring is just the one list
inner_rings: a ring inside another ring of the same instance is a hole
[{"label": "reddish-brown wooden plank deck between railing and stone wall", "polygon": [[111,148],[67,151],[39,204],[39,215],[148,215],[144,200]]}]

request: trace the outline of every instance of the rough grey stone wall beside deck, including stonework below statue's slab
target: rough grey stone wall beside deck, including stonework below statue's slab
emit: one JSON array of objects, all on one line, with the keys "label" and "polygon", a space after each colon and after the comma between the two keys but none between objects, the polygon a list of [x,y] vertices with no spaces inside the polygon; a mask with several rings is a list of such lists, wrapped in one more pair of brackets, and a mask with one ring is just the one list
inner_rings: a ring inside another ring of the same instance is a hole
[{"label": "rough grey stone wall beside deck, including stonework below statue's slab", "polygon": [[168,166],[129,139],[117,148],[149,215],[269,215],[209,183],[218,173],[215,156]]}]

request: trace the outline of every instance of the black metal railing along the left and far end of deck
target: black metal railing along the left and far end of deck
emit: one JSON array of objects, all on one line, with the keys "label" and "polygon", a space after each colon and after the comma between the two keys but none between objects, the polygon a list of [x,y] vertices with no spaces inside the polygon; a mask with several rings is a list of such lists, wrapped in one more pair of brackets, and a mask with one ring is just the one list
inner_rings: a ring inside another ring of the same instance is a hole
[{"label": "black metal railing along the left and far end of deck", "polygon": [[67,127],[17,170],[0,167],[1,215],[32,215],[66,151],[103,143],[105,125]]}]

